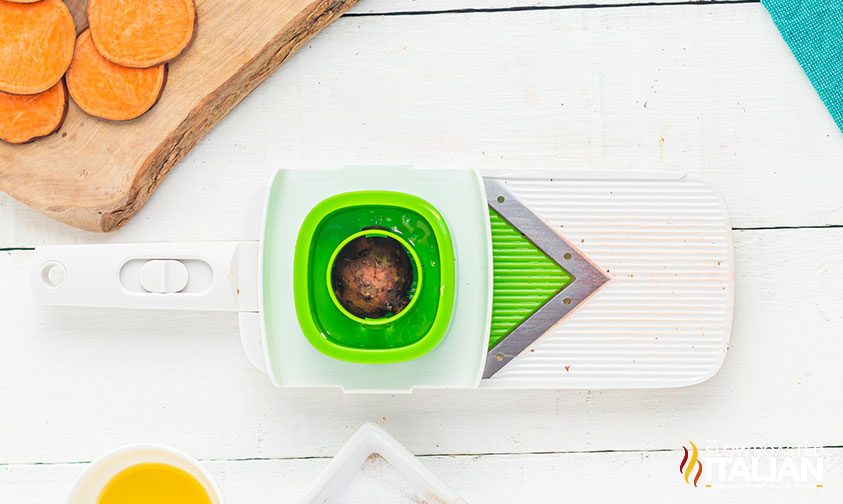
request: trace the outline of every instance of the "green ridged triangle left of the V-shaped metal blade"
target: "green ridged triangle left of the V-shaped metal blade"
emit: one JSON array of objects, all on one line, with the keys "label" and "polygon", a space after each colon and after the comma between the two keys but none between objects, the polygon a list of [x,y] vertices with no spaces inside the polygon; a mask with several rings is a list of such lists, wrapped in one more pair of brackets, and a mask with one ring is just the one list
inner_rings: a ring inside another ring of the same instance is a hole
[{"label": "green ridged triangle left of the V-shaped metal blade", "polygon": [[489,218],[495,272],[489,338],[492,348],[570,284],[572,278],[491,208]]}]

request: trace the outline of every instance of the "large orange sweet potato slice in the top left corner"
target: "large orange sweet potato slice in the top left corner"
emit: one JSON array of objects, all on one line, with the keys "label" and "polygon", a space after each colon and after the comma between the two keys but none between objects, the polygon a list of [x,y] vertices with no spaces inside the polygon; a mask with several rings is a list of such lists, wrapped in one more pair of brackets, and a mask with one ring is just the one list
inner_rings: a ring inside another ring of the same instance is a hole
[{"label": "large orange sweet potato slice in the top left corner", "polygon": [[70,65],[75,40],[73,16],[61,0],[0,1],[0,91],[53,87]]}]

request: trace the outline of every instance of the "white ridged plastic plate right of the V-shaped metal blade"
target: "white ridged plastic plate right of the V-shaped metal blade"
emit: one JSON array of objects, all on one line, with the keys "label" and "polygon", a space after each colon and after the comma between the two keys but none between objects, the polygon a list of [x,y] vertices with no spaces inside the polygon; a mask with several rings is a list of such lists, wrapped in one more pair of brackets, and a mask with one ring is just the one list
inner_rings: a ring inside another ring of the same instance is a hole
[{"label": "white ridged plastic plate right of the V-shaped metal blade", "polygon": [[505,182],[612,279],[483,386],[675,387],[717,372],[731,332],[734,262],[713,187],[660,174]]}]

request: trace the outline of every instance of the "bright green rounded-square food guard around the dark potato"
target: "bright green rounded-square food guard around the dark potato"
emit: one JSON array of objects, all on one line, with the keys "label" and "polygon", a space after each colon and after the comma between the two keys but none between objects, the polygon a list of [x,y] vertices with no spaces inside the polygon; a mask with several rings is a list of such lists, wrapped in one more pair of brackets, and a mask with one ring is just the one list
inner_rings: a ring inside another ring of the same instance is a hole
[{"label": "bright green rounded-square food guard around the dark potato", "polygon": [[[334,294],[334,261],[360,236],[395,239],[411,258],[411,299],[397,314],[360,318]],[[294,260],[296,316],[308,341],[329,357],[365,364],[416,359],[448,329],[456,288],[453,243],[439,212],[417,196],[359,191],[325,199],[305,217]]]}]

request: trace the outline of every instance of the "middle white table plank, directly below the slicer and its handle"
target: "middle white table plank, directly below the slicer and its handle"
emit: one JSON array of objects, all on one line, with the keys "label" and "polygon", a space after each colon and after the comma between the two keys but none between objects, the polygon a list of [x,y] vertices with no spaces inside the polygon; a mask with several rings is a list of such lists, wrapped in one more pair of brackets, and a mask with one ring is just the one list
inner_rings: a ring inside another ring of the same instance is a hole
[{"label": "middle white table plank, directly below the slicer and its handle", "polygon": [[30,256],[0,252],[0,462],[90,460],[142,441],[200,458],[330,456],[372,420],[421,454],[843,440],[827,400],[843,367],[823,357],[843,354],[843,229],[737,232],[722,370],[656,391],[276,389],[241,352],[235,315],[35,306]]}]

